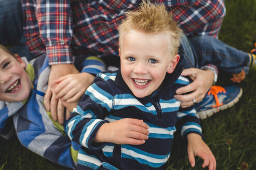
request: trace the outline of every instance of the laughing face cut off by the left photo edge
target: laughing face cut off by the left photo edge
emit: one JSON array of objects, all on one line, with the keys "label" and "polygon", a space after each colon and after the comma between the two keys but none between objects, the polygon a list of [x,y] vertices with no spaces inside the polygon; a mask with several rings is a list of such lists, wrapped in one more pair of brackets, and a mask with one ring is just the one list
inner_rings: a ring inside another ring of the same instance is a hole
[{"label": "laughing face cut off by the left photo edge", "polygon": [[0,101],[25,100],[31,90],[31,80],[25,72],[25,63],[0,49]]}]

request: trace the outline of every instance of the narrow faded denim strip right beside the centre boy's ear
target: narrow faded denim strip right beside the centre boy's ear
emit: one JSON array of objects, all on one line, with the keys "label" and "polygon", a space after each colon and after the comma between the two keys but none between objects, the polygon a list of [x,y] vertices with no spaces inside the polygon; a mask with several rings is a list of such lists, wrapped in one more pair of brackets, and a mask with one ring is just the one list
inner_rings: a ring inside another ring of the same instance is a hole
[{"label": "narrow faded denim strip right beside the centre boy's ear", "polygon": [[198,68],[198,61],[195,57],[195,51],[191,46],[190,40],[184,34],[181,36],[181,45],[178,54],[180,55],[178,65],[182,65],[184,68]]}]

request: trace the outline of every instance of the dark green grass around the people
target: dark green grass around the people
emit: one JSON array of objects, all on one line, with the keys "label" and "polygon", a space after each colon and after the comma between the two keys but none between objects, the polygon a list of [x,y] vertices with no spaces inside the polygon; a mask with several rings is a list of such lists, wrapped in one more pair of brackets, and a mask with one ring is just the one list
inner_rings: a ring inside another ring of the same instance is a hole
[{"label": "dark green grass around the people", "polygon": [[[219,39],[243,51],[256,42],[256,0],[226,0],[226,17]],[[217,160],[217,169],[256,169],[256,70],[251,70],[239,85],[244,90],[240,101],[201,121],[204,140]],[[220,84],[231,84],[222,80]],[[178,134],[176,134],[178,135]],[[52,163],[21,146],[17,137],[7,141],[0,137],[0,170],[4,169],[68,169]],[[248,168],[241,166],[242,162]],[[196,166],[188,162],[181,137],[174,140],[169,170],[207,169],[196,158]]]}]

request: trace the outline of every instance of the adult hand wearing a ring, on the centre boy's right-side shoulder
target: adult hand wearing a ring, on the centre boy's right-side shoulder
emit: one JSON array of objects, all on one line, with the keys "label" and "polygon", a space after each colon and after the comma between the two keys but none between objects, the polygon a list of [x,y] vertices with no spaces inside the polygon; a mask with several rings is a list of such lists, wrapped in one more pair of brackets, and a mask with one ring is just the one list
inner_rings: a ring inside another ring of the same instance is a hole
[{"label": "adult hand wearing a ring, on the centre boy's right-side shoulder", "polygon": [[[182,76],[189,76],[193,82],[185,87],[179,88],[176,91],[174,98],[181,101],[181,107],[189,107],[193,105],[193,100],[200,102],[205,97],[207,91],[211,88],[214,73],[211,70],[202,70],[198,68],[187,68],[184,69]],[[184,94],[187,92],[192,92],[190,94]]]}]

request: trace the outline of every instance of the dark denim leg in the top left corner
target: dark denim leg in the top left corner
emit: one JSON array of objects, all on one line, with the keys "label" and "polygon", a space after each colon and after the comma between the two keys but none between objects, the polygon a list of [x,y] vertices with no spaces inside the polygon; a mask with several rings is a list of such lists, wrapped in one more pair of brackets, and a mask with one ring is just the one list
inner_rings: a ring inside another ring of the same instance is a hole
[{"label": "dark denim leg in the top left corner", "polygon": [[0,44],[19,45],[23,35],[21,1],[0,0],[0,4]]}]

